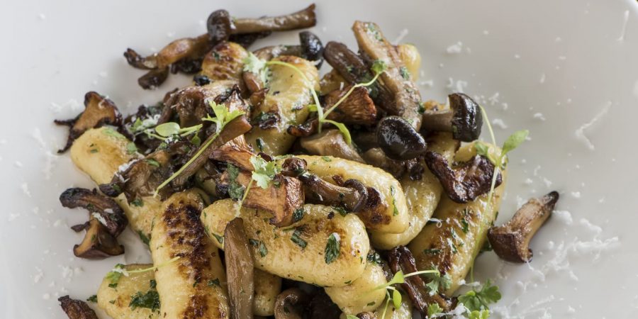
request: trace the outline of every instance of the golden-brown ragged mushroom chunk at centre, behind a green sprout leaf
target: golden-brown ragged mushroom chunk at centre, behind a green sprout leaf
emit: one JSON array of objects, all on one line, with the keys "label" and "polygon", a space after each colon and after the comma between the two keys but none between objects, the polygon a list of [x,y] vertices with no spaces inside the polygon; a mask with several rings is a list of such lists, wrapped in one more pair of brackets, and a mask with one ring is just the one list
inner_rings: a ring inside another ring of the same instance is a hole
[{"label": "golden-brown ragged mushroom chunk at centre, behind a green sprout leaf", "polygon": [[[241,170],[234,182],[247,187],[251,179],[250,172]],[[221,181],[220,186],[228,189],[230,183],[233,182],[228,171],[222,174]],[[293,220],[294,212],[303,206],[303,188],[298,179],[277,174],[267,189],[253,185],[242,205],[269,211],[273,214],[270,219],[270,223],[273,225],[289,226],[295,221]]]}]

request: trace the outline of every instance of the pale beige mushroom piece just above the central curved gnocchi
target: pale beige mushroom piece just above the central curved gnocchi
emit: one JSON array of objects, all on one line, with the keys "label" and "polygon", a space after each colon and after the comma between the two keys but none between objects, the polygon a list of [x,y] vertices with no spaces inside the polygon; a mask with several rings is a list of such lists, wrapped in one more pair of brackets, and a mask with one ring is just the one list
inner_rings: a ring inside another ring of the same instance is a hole
[{"label": "pale beige mushroom piece just above the central curved gnocchi", "polygon": [[322,133],[302,138],[300,145],[311,155],[334,156],[364,162],[357,150],[345,142],[339,130],[324,130]]}]

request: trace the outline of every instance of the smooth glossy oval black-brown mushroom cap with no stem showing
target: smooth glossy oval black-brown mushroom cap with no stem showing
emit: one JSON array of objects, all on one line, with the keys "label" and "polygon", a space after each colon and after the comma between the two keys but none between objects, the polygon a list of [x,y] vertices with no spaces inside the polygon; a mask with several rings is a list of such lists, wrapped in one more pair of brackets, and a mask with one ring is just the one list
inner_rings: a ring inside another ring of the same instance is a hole
[{"label": "smooth glossy oval black-brown mushroom cap with no stem showing", "polygon": [[387,116],[376,125],[376,140],[381,150],[391,159],[413,159],[425,152],[425,139],[408,121],[398,116]]}]

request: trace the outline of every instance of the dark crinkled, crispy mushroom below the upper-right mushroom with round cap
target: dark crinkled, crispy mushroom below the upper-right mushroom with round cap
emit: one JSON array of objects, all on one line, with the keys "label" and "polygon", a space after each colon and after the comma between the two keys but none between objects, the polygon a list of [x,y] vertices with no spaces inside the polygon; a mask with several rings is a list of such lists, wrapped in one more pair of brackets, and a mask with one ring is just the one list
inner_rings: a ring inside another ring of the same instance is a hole
[{"label": "dark crinkled, crispy mushroom below the upper-right mushroom with round cap", "polygon": [[[439,179],[447,196],[457,203],[474,201],[491,189],[494,164],[481,155],[450,166],[447,159],[439,153],[426,152],[425,164]],[[494,187],[498,187],[502,181],[498,172]]]}]

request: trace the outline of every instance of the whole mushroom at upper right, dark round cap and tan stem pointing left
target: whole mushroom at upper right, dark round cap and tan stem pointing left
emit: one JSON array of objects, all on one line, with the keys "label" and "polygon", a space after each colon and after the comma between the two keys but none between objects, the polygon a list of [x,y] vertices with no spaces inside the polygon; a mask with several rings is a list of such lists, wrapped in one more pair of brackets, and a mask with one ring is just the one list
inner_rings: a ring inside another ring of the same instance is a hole
[{"label": "whole mushroom at upper right, dark round cap and tan stem pointing left", "polygon": [[449,108],[444,111],[424,111],[422,126],[426,130],[452,132],[455,140],[471,142],[481,135],[483,115],[471,97],[454,93],[447,96]]}]

